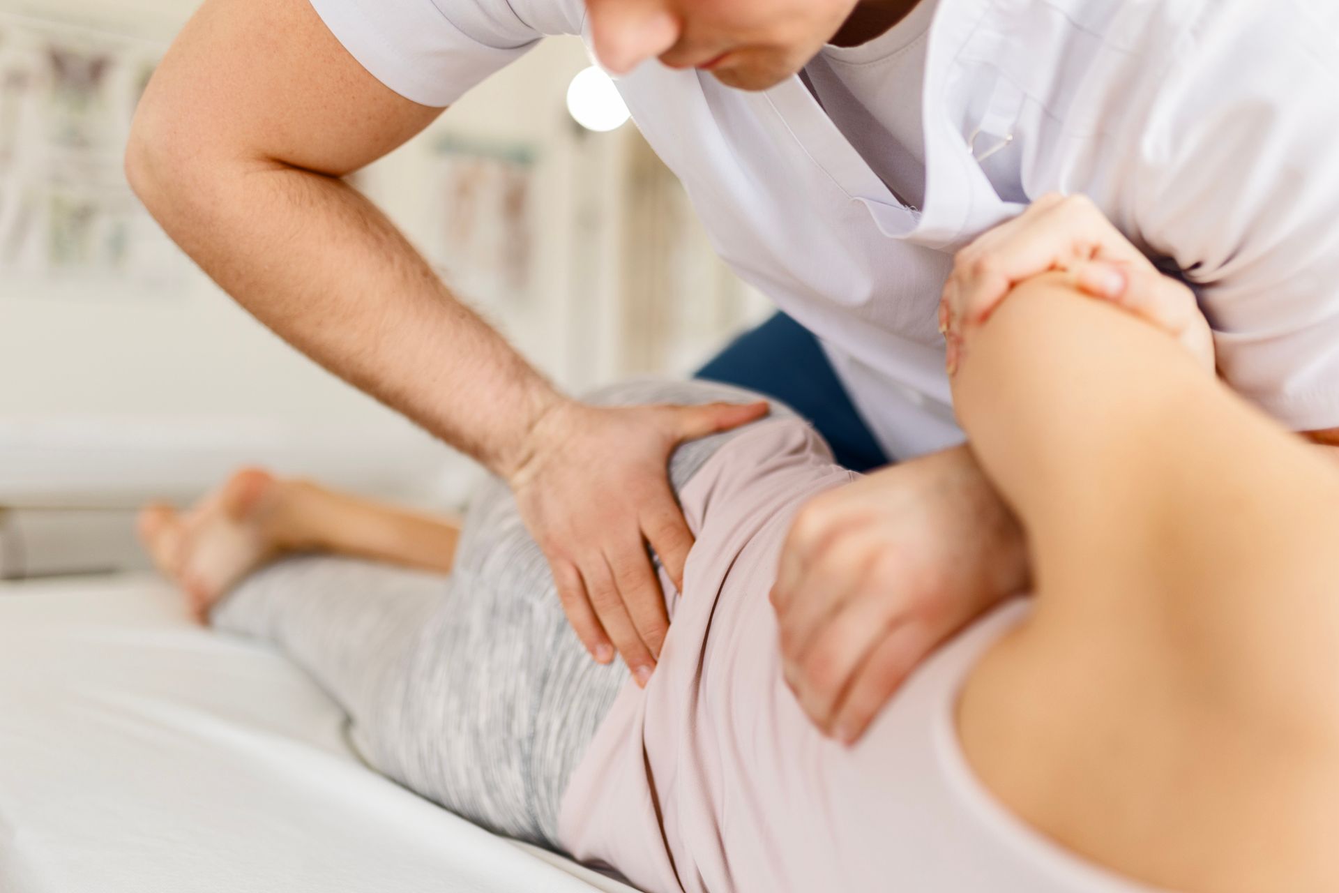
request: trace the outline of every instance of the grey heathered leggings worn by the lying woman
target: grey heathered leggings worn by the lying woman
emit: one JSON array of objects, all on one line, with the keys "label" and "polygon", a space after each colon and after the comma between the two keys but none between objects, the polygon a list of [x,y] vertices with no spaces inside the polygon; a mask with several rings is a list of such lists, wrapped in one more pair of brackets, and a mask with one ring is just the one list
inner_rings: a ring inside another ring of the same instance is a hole
[{"label": "grey heathered leggings worn by the lying woman", "polygon": [[[603,404],[747,402],[704,382],[633,382]],[[773,416],[791,415],[773,403]],[[675,490],[734,436],[682,446]],[[331,556],[280,561],[213,612],[270,640],[348,712],[376,770],[497,833],[558,849],[568,779],[628,679],[568,627],[510,491],[490,479],[465,519],[450,576]]]}]

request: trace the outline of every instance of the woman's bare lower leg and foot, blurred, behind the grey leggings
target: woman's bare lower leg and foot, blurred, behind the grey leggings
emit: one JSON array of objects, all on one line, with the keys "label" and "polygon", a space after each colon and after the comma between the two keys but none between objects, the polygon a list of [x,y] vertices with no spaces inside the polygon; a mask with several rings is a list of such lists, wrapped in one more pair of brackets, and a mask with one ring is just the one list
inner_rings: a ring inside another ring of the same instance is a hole
[{"label": "woman's bare lower leg and foot, blurred, behind the grey leggings", "polygon": [[295,552],[446,573],[461,525],[245,469],[186,513],[146,507],[139,532],[158,568],[204,613],[249,573]]}]

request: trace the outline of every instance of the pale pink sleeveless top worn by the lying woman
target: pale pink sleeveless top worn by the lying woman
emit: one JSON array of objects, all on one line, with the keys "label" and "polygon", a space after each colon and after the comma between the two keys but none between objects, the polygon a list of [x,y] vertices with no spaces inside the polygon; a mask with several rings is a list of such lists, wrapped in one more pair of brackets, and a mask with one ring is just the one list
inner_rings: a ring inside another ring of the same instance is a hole
[{"label": "pale pink sleeveless top worn by the lying woman", "polygon": [[957,746],[953,704],[1015,601],[928,660],[854,747],[782,679],[767,593],[795,509],[856,475],[794,419],[758,424],[684,489],[698,537],[647,688],[628,684],[577,767],[560,839],[648,893],[1131,893],[1010,815]]}]

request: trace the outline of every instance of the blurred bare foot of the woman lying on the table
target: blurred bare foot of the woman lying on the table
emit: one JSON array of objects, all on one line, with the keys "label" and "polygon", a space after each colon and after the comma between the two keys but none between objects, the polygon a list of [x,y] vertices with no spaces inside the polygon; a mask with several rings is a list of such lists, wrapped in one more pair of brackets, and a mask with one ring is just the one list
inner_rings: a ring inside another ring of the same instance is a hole
[{"label": "blurred bare foot of the woman lying on the table", "polygon": [[204,620],[249,573],[301,548],[295,503],[305,486],[262,469],[242,469],[187,511],[146,506],[139,513],[139,538]]}]

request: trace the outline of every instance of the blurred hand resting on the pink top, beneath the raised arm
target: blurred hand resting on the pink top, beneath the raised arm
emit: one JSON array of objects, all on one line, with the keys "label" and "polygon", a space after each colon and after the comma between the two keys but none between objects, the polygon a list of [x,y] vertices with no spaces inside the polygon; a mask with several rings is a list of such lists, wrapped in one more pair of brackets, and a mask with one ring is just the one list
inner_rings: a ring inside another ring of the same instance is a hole
[{"label": "blurred hand resting on the pink top, beneath the raised arm", "polygon": [[1027,586],[1024,552],[965,447],[811,499],[771,592],[801,707],[854,742],[936,645]]}]

